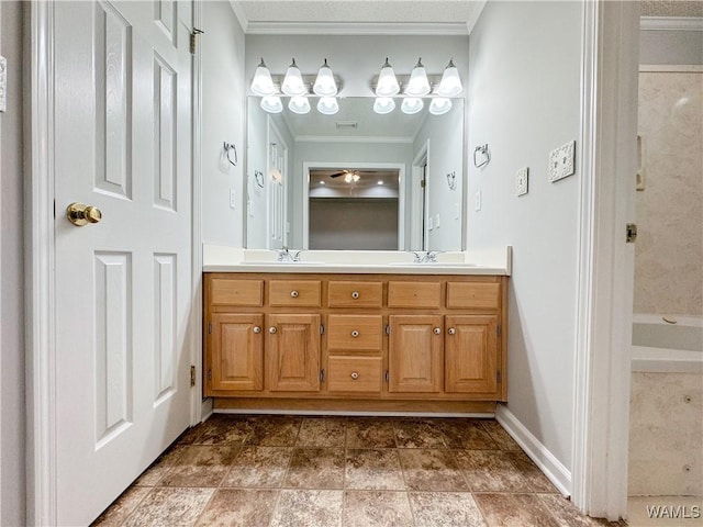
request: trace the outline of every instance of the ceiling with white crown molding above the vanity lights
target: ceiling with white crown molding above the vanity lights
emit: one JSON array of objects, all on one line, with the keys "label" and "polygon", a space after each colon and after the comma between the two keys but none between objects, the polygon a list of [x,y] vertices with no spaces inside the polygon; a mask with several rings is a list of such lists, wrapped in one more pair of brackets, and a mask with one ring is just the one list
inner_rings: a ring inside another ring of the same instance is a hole
[{"label": "ceiling with white crown molding above the vanity lights", "polygon": [[[246,33],[344,27],[378,34],[468,34],[486,1],[479,0],[231,0]],[[389,24],[393,24],[389,27]]]}]

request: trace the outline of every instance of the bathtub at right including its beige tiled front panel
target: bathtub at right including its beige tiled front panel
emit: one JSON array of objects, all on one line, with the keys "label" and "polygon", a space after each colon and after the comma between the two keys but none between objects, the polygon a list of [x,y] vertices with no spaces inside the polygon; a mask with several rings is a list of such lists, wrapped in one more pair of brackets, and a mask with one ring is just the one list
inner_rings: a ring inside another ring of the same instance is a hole
[{"label": "bathtub at right including its beige tiled front panel", "polygon": [[631,496],[703,495],[703,319],[666,318],[633,321]]}]

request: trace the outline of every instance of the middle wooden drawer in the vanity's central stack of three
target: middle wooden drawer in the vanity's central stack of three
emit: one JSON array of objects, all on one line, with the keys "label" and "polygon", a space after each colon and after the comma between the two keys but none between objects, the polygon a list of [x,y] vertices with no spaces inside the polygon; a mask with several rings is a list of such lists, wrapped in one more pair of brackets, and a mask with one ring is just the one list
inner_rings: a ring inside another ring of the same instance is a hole
[{"label": "middle wooden drawer in the vanity's central stack of three", "polygon": [[330,315],[327,349],[379,350],[383,345],[381,315]]}]

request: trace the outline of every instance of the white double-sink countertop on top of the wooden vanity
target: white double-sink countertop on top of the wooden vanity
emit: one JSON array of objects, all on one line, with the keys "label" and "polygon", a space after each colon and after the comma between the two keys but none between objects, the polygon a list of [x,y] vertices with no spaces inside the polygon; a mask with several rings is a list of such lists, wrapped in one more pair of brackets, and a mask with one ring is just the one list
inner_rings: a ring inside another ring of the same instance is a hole
[{"label": "white double-sink countertop on top of the wooden vanity", "polygon": [[512,247],[440,253],[436,264],[413,259],[412,253],[393,250],[303,250],[301,261],[279,262],[274,250],[203,245],[203,272],[501,276],[511,274]]}]

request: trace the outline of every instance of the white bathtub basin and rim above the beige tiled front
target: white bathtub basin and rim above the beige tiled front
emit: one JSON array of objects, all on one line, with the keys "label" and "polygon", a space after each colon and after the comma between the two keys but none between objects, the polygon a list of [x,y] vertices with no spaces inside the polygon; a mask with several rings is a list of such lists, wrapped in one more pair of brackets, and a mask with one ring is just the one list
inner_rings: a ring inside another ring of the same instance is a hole
[{"label": "white bathtub basin and rim above the beige tiled front", "polygon": [[632,370],[703,372],[703,317],[635,314]]}]

